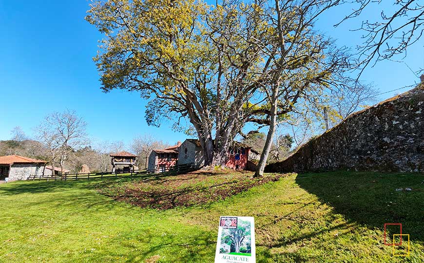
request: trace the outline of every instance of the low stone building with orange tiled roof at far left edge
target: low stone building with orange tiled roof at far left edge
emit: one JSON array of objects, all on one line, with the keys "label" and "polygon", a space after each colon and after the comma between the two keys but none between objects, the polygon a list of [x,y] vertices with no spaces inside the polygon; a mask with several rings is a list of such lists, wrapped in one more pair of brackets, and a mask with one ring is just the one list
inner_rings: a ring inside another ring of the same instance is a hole
[{"label": "low stone building with orange tiled roof at far left edge", "polygon": [[19,155],[0,157],[0,180],[26,180],[30,176],[44,175],[45,161],[31,159]]}]

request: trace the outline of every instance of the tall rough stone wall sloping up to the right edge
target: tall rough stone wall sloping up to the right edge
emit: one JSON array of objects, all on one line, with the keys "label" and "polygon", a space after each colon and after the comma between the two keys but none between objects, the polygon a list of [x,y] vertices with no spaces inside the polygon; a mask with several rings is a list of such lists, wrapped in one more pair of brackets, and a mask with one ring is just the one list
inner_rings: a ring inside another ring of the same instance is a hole
[{"label": "tall rough stone wall sloping up to the right edge", "polygon": [[424,84],[349,116],[268,172],[424,172]]}]

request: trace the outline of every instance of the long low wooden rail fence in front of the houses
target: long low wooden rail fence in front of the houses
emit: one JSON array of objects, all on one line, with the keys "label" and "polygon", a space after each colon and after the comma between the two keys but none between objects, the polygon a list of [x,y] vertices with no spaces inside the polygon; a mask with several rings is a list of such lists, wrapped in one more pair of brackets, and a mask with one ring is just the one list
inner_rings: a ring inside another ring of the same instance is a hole
[{"label": "long low wooden rail fence in front of the houses", "polygon": [[199,169],[199,166],[194,164],[176,165],[168,169],[158,168],[154,170],[134,170],[131,172],[92,172],[92,173],[68,173],[58,175],[44,175],[44,176],[30,176],[27,180],[46,180],[46,181],[74,181],[74,180],[93,180],[113,177],[141,177],[146,175],[153,175],[155,177],[171,176],[182,174]]}]

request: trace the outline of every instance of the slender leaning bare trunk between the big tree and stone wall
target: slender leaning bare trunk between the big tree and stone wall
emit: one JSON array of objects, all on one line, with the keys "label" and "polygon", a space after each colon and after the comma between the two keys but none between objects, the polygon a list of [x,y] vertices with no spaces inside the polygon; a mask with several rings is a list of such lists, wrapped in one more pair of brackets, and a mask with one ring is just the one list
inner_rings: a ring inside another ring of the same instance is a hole
[{"label": "slender leaning bare trunk between the big tree and stone wall", "polygon": [[271,114],[270,114],[270,129],[267,134],[267,141],[265,142],[264,150],[261,153],[261,158],[259,159],[258,167],[254,174],[254,177],[259,177],[264,174],[265,166],[267,165],[268,155],[270,154],[271,146],[272,146],[272,138],[275,133],[275,124],[277,122],[277,94],[279,84],[275,84],[276,86],[272,89],[271,96]]}]

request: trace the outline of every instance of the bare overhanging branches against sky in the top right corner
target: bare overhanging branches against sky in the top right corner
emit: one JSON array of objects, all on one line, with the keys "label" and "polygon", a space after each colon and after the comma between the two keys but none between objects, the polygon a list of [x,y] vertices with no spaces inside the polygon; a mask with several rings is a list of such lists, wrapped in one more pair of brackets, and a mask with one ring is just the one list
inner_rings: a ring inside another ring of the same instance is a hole
[{"label": "bare overhanging branches against sky in the top right corner", "polygon": [[[357,18],[367,8],[378,8],[382,0],[345,0],[354,4],[352,13],[347,19]],[[385,3],[388,0],[384,1]],[[393,0],[393,11],[387,12],[381,8],[379,19],[366,19],[357,31],[363,31],[364,42],[358,46],[359,66],[362,74],[371,64],[380,60],[393,60],[396,55],[406,56],[409,46],[416,43],[424,32],[424,3],[422,0]],[[377,17],[377,16],[376,16]]]}]

